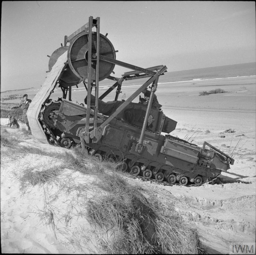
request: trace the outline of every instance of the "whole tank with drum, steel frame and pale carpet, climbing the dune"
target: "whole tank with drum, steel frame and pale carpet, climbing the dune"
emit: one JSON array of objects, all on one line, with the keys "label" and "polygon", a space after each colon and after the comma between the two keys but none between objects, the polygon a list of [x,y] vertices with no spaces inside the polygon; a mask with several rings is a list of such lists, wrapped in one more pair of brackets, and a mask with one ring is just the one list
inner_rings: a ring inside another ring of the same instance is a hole
[{"label": "whole tank with drum, steel frame and pale carpet, climbing the dune", "polygon": [[[56,59],[50,58],[50,73],[27,113],[32,135],[55,146],[80,146],[100,161],[118,162],[123,171],[134,176],[170,185],[199,186],[227,172],[233,158],[207,142],[200,147],[170,135],[177,122],[165,116],[161,105],[152,105],[158,79],[167,67],[140,68],[116,60],[116,51],[106,36],[90,30],[93,25],[99,29],[99,18],[90,19],[88,31],[69,36],[70,45],[57,49]],[[115,65],[133,71],[112,77]],[[141,77],[149,79],[127,100],[118,100],[122,82]],[[116,83],[99,97],[98,81],[106,78]],[[78,80],[87,89],[86,107],[71,101],[70,88]],[[150,84],[147,104],[143,100],[133,103]],[[53,99],[57,85],[63,97]],[[115,99],[105,102],[104,97],[116,87]]]}]

